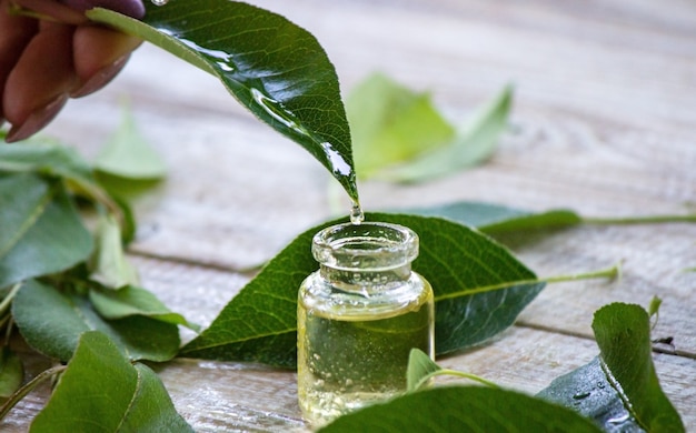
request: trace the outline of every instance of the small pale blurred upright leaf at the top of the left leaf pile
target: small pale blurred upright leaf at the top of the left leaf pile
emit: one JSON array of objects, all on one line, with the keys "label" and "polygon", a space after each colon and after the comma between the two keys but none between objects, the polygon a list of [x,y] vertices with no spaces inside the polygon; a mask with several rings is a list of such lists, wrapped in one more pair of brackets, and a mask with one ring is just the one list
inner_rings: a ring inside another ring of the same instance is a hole
[{"label": "small pale blurred upright leaf at the top of the left leaf pile", "polygon": [[121,112],[121,124],[97,155],[95,169],[135,180],[163,178],[167,174],[165,161],[138,130],[127,104]]}]

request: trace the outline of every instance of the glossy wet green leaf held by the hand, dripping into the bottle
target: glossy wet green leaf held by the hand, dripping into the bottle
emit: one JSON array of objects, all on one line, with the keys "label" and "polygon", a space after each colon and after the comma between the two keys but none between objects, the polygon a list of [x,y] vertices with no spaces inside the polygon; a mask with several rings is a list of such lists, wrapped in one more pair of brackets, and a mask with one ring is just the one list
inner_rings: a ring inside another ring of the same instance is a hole
[{"label": "glossy wet green leaf held by the hand, dripping into the bottle", "polygon": [[358,201],[338,78],[315,37],[279,14],[237,1],[145,3],[142,22],[100,8],[87,16],[219,78],[243,107],[308,150]]}]

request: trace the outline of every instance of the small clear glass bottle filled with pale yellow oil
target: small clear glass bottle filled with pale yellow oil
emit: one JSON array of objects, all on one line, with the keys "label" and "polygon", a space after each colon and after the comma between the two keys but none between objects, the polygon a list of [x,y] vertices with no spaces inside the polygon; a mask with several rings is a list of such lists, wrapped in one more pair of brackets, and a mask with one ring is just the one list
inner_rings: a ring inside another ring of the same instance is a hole
[{"label": "small clear glass bottle filled with pale yellow oil", "polygon": [[418,235],[388,223],[318,232],[298,296],[298,396],[322,424],[406,391],[409,352],[434,356],[430,284],[411,271]]}]

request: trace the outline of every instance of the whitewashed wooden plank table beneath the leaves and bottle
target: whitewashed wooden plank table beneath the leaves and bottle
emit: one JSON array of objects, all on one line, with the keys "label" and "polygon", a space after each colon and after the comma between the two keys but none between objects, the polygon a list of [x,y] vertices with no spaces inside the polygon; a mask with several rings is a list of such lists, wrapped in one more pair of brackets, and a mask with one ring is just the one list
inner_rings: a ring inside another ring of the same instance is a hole
[{"label": "whitewashed wooden plank table beneath the leaves and bottle", "polygon": [[[692,0],[253,3],[310,30],[344,92],[382,71],[430,90],[448,115],[464,119],[515,84],[514,133],[490,162],[414,187],[360,184],[367,210],[458,200],[593,216],[696,208]],[[250,279],[245,269],[331,215],[330,180],[216,80],[150,46],[108,89],[70,102],[48,132],[93,155],[118,123],[122,97],[169,165],[167,181],[137,203],[131,258],[145,286],[208,324]],[[623,261],[623,278],[550,285],[501,338],[441,363],[535,393],[597,354],[595,310],[613,301],[647,305],[658,295],[654,336],[673,336],[674,353],[655,352],[654,360],[687,430],[696,431],[696,272],[684,271],[696,266],[696,224],[583,225],[513,246],[539,275]],[[30,371],[44,366],[37,358]],[[305,429],[291,372],[185,359],[158,371],[199,431]],[[47,395],[31,394],[0,427],[26,431]]]}]

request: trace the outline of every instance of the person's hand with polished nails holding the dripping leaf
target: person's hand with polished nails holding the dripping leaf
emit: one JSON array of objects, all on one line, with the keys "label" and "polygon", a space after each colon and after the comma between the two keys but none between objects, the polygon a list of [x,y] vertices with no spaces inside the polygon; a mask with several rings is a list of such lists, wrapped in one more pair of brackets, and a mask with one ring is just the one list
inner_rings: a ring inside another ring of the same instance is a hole
[{"label": "person's hand with polished nails holding the dripping leaf", "polygon": [[6,141],[29,138],[69,98],[105,87],[141,43],[87,20],[83,11],[93,7],[145,14],[142,0],[0,0],[0,125],[12,124]]}]

